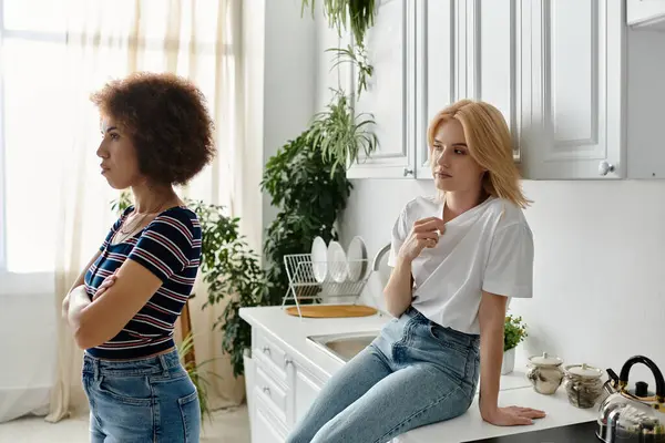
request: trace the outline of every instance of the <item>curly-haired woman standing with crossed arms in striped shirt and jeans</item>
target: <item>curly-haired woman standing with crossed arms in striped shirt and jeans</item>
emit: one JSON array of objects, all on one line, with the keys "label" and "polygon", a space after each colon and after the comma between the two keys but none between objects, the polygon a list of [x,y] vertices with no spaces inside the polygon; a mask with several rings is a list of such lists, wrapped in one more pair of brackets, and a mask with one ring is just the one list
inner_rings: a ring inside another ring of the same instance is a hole
[{"label": "curly-haired woman standing with crossed arms in striped shirt and jeans", "polygon": [[83,387],[92,442],[198,442],[196,389],[173,329],[194,285],[201,226],[175,194],[215,154],[203,94],[171,74],[139,73],[92,96],[96,151],[111,187],[130,206],[63,301],[85,350]]}]

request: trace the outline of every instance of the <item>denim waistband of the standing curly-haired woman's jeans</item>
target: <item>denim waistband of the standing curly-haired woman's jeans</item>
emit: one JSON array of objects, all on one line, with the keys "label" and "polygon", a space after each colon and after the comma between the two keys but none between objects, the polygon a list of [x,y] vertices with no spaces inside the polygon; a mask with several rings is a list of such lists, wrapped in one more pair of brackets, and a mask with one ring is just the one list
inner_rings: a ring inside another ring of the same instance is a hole
[{"label": "denim waistband of the standing curly-haired woman's jeans", "polygon": [[156,373],[170,373],[173,369],[180,368],[181,362],[177,350],[173,350],[160,356],[147,357],[136,360],[102,360],[83,354],[83,372],[98,375],[150,375]]}]

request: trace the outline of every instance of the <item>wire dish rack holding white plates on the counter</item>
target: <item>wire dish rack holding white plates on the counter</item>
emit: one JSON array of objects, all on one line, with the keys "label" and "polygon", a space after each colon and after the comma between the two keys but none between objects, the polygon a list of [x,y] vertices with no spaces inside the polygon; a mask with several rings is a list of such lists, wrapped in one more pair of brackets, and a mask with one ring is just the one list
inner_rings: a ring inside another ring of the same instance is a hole
[{"label": "wire dish rack holding white plates on the counter", "polygon": [[[360,266],[360,276],[357,279],[349,279],[349,265]],[[337,298],[352,300],[355,305],[369,280],[370,264],[369,259],[347,260],[347,261],[313,261],[311,254],[287,254],[284,256],[284,265],[288,276],[288,290],[284,296],[282,307],[287,305],[289,298],[300,311],[300,300],[319,300]],[[315,277],[315,267],[326,268],[326,278],[319,281]],[[345,275],[345,279],[334,278],[334,276]]]}]

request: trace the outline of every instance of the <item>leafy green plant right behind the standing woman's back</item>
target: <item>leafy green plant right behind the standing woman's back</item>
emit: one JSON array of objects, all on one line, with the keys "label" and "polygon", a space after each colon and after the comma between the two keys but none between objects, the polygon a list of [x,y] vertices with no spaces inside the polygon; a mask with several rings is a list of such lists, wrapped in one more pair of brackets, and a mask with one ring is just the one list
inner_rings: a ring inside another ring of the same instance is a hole
[{"label": "leafy green plant right behind the standing woman's back", "polygon": [[[252,329],[238,312],[242,307],[267,305],[269,284],[257,255],[239,235],[239,218],[228,216],[224,206],[185,203],[201,224],[201,272],[207,284],[203,307],[228,301],[213,328],[222,331],[222,350],[229,354],[233,373],[239,377],[245,370],[243,352],[252,346]],[[112,207],[122,212],[131,204],[131,194],[123,192]]]}]

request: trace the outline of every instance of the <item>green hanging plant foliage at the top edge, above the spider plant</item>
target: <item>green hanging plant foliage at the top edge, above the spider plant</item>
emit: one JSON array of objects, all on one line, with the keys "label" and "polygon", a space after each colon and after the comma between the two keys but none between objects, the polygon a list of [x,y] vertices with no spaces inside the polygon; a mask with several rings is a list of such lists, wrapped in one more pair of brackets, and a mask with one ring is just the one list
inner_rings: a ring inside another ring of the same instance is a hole
[{"label": "green hanging plant foliage at the top edge, above the spider plant", "polygon": [[[375,24],[375,0],[323,0],[321,6],[328,25],[337,29],[338,35],[341,35],[349,23],[356,44],[362,47],[367,30]],[[314,17],[315,0],[303,0],[300,14],[304,14],[306,8],[311,8]]]}]

